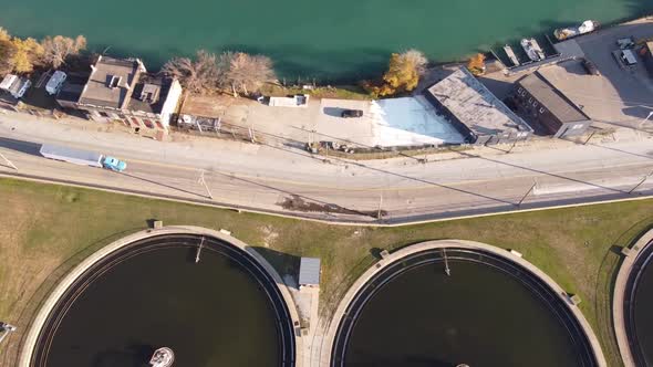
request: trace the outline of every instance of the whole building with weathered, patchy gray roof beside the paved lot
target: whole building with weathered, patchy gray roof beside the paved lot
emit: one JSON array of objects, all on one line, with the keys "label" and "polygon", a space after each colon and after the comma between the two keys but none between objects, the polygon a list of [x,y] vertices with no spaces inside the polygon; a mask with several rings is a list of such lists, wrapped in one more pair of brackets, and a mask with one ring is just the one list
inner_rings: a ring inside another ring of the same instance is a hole
[{"label": "whole building with weathered, patchy gray roof beside the paved lot", "polygon": [[499,144],[524,140],[532,128],[497,98],[465,67],[424,91],[468,144]]}]

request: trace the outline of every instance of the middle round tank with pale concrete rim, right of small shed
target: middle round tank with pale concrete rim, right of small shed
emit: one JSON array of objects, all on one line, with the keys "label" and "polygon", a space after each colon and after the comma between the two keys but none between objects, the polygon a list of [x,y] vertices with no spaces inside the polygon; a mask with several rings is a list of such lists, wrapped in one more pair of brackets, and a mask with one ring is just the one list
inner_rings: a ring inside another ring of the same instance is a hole
[{"label": "middle round tank with pale concrete rim, right of small shed", "polygon": [[332,367],[605,365],[558,285],[505,250],[467,241],[383,259],[345,295],[326,343]]}]

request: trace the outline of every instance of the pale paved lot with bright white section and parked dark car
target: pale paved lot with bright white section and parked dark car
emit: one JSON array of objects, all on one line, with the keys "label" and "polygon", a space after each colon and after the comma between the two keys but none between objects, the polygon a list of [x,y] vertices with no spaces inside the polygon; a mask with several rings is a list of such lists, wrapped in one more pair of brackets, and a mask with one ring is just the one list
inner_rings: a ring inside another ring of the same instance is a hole
[{"label": "pale paved lot with bright white section and parked dark car", "polygon": [[[343,118],[344,109],[363,116]],[[246,98],[191,96],[183,114],[220,118],[296,141],[338,141],[359,147],[462,143],[463,137],[423,97],[382,101],[311,98],[305,107],[273,107]]]}]

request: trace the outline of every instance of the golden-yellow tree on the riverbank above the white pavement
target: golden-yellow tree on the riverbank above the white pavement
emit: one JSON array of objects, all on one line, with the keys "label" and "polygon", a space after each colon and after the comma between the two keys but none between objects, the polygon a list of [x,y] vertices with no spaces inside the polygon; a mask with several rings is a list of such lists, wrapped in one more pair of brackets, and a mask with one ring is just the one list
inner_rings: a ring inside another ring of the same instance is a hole
[{"label": "golden-yellow tree on the riverbank above the white pavement", "polygon": [[427,65],[428,60],[417,50],[393,53],[382,80],[364,82],[363,87],[374,98],[411,92],[417,87],[419,77],[426,73]]}]

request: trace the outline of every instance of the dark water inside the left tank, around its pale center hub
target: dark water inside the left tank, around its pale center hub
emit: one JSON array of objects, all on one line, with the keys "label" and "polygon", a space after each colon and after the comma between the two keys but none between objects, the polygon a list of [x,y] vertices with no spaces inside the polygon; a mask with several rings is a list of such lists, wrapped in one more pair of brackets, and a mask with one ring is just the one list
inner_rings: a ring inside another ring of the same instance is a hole
[{"label": "dark water inside the left tank, around its pale center hub", "polygon": [[49,367],[141,367],[160,346],[174,366],[278,366],[274,312],[253,276],[205,249],[159,248],[103,274],[56,331]]}]

